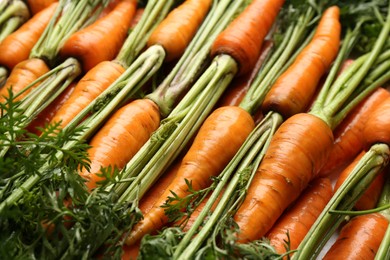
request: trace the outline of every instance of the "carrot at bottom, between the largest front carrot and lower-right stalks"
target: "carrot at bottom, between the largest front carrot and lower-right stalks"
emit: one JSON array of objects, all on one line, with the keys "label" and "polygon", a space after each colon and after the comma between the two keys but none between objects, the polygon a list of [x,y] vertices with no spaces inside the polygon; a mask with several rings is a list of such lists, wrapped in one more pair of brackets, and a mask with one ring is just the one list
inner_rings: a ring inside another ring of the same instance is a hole
[{"label": "carrot at bottom, between the largest front carrot and lower-right stalks", "polygon": [[[332,183],[328,178],[316,179],[299,196],[294,205],[283,213],[267,234],[270,244],[278,254],[286,253],[285,241],[290,242],[289,250],[295,250],[299,246],[332,194]],[[288,239],[287,233],[290,239]]]}]

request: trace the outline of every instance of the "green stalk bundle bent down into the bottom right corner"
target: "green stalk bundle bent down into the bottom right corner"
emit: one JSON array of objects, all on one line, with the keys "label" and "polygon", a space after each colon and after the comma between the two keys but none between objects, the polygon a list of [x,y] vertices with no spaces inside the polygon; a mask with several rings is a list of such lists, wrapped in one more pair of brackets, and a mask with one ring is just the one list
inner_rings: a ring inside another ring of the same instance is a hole
[{"label": "green stalk bundle bent down into the bottom right corner", "polygon": [[293,259],[316,258],[344,220],[344,215],[332,214],[330,211],[351,210],[364,190],[387,165],[389,157],[390,150],[385,144],[373,145],[367,151],[313,224],[299,245],[298,251],[293,255]]}]

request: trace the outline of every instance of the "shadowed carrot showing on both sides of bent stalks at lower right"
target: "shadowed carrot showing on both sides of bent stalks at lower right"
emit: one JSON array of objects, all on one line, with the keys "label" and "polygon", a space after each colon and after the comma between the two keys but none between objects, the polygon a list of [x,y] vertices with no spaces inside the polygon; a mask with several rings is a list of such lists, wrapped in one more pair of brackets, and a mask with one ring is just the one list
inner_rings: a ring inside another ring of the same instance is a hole
[{"label": "shadowed carrot showing on both sides of bent stalks at lower right", "polygon": [[[355,168],[355,166],[358,164],[359,160],[363,157],[365,154],[364,151],[362,151],[358,156],[356,156],[355,160],[349,164],[340,174],[340,176],[337,179],[337,182],[335,184],[335,191],[343,184],[345,179],[349,176],[349,174],[352,172],[352,170]],[[354,208],[356,210],[368,210],[372,209],[377,205],[379,197],[382,192],[383,184],[385,182],[385,172],[382,171],[375,180],[370,184],[370,186],[367,188],[367,190],[363,193],[363,195],[360,197],[360,199],[355,203]]]}]

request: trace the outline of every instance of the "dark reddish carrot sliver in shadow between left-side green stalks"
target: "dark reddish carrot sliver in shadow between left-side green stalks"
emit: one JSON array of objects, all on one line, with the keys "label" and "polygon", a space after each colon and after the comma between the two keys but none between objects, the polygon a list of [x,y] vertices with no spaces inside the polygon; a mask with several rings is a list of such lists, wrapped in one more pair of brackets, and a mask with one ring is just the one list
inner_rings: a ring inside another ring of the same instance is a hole
[{"label": "dark reddish carrot sliver in shadow between left-side green stalks", "polygon": [[76,83],[69,85],[48,107],[46,107],[34,120],[28,125],[27,130],[36,135],[40,135],[41,131],[38,127],[43,128],[50,123],[55,113],[62,107],[62,105],[69,99]]}]

